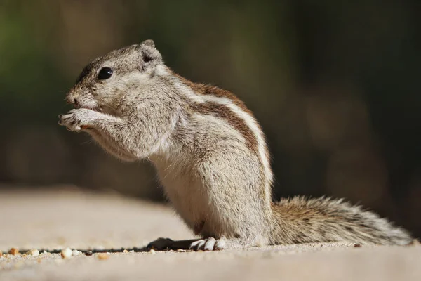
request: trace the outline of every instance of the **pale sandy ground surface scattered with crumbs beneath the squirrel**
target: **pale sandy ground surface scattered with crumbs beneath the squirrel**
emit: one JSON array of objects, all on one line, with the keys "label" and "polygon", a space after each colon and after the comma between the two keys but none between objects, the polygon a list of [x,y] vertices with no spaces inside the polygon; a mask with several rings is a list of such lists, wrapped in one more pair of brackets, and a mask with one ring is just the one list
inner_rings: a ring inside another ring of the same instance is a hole
[{"label": "pale sandy ground surface scattered with crumbs beneath the squirrel", "polygon": [[[171,209],[77,190],[0,192],[0,249],[142,247],[191,238]],[[0,257],[0,280],[421,280],[421,246],[297,244],[217,252]]]}]

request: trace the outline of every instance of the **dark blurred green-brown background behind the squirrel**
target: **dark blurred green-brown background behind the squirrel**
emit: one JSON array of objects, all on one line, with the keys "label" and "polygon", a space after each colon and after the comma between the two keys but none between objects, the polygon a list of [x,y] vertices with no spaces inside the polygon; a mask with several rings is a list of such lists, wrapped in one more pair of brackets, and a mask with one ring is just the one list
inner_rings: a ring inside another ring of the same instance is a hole
[{"label": "dark blurred green-brown background behind the squirrel", "polygon": [[57,124],[86,63],[154,39],[173,70],[255,112],[274,197],[346,197],[420,237],[420,4],[0,0],[0,183],[162,200],[147,162]]}]

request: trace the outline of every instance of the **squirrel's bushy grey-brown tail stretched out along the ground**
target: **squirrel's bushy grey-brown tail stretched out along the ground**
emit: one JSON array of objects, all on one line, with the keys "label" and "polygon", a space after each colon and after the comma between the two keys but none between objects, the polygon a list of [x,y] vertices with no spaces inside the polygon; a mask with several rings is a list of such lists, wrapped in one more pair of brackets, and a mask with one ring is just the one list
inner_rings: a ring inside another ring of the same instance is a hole
[{"label": "squirrel's bushy grey-brown tail stretched out along the ground", "polygon": [[354,242],[358,244],[409,244],[410,234],[360,206],[330,198],[293,197],[272,204],[276,221],[274,244]]}]

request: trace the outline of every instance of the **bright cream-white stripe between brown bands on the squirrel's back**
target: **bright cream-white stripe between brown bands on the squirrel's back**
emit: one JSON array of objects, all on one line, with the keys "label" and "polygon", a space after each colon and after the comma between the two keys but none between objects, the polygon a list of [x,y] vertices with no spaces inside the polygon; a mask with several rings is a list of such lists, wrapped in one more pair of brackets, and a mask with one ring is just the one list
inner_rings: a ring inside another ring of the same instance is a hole
[{"label": "bright cream-white stripe between brown bands on the squirrel's back", "polygon": [[[217,96],[211,96],[211,95],[198,95],[194,93],[189,87],[182,84],[181,81],[179,81],[175,86],[178,86],[180,91],[182,93],[185,93],[185,96],[192,100],[195,103],[206,103],[206,102],[213,102],[213,103],[219,103],[220,105],[225,105],[231,110],[237,117],[243,119],[243,121],[246,123],[250,131],[253,132],[257,142],[258,142],[258,153],[260,155],[260,160],[263,165],[263,169],[265,171],[265,176],[269,180],[270,183],[272,183],[272,171],[270,169],[269,159],[267,158],[267,155],[265,153],[265,138],[263,137],[262,131],[260,130],[258,126],[258,122],[256,119],[249,115],[247,112],[244,112],[241,110],[241,107],[238,105],[235,105],[232,100],[229,98],[220,98]],[[270,192],[267,192],[267,196],[270,197]],[[270,199],[272,200],[272,198]]]}]

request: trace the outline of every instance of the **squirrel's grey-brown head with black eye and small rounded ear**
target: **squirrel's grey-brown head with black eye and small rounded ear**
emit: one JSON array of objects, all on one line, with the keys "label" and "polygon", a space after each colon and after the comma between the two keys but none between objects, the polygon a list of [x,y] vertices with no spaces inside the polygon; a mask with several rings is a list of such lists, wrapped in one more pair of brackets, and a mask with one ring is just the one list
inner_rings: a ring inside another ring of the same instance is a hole
[{"label": "squirrel's grey-brown head with black eye and small rounded ear", "polygon": [[113,113],[119,100],[139,86],[140,79],[153,77],[160,65],[162,57],[152,40],[111,51],[83,68],[67,93],[67,102]]}]

